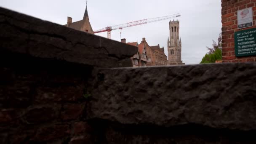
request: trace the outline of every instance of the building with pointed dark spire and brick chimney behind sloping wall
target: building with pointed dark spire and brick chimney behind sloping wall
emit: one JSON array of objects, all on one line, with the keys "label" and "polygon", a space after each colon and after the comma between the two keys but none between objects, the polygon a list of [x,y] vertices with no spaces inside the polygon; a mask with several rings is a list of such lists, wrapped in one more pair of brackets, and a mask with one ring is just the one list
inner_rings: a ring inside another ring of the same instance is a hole
[{"label": "building with pointed dark spire and brick chimney behind sloping wall", "polygon": [[94,34],[93,29],[90,24],[90,21],[89,21],[89,16],[88,16],[88,11],[87,11],[87,3],[86,3],[85,14],[83,16],[83,19],[80,21],[72,22],[72,18],[67,17],[67,24],[65,24],[64,26],[70,27],[72,29],[80,30],[83,32],[88,32],[90,34]]}]

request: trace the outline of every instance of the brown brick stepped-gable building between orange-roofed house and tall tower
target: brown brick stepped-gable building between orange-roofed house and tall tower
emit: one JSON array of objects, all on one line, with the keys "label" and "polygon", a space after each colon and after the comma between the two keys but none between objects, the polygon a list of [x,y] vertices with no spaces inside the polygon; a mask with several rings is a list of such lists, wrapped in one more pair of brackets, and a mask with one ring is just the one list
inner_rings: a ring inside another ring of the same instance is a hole
[{"label": "brown brick stepped-gable building between orange-roofed house and tall tower", "polygon": [[164,48],[160,48],[159,45],[149,46],[146,38],[142,38],[141,44],[144,44],[146,48],[147,66],[161,66],[168,64]]}]

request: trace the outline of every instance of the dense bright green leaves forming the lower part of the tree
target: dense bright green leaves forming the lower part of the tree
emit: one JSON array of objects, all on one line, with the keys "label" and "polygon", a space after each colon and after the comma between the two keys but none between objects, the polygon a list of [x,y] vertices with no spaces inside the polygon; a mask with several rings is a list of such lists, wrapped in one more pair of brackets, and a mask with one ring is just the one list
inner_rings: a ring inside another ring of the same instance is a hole
[{"label": "dense bright green leaves forming the lower part of the tree", "polygon": [[206,53],[200,64],[215,63],[215,61],[221,61],[221,57],[221,50],[219,48],[216,48],[216,50],[213,53]]}]

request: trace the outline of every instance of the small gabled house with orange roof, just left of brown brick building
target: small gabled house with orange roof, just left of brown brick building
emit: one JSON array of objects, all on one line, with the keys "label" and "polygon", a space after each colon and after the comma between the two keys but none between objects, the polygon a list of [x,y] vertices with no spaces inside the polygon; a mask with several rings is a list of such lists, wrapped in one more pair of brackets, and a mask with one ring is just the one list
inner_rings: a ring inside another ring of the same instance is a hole
[{"label": "small gabled house with orange roof, just left of brown brick building", "polygon": [[[121,42],[126,43],[126,40],[122,39]],[[147,52],[146,52],[145,45],[144,44],[138,45],[138,42],[126,43],[126,44],[138,47],[138,52],[133,57],[131,57],[133,67],[146,67],[147,66]]]}]

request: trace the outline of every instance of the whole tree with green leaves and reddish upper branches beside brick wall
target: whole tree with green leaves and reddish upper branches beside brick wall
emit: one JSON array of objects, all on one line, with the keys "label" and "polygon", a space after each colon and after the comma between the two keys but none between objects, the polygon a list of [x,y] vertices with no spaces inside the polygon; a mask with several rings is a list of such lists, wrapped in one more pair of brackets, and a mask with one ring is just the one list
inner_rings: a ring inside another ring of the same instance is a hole
[{"label": "whole tree with green leaves and reddish upper branches beside brick wall", "polygon": [[222,51],[219,49],[221,47],[222,36],[219,34],[218,43],[213,40],[213,48],[206,47],[208,53],[205,54],[200,64],[215,63],[215,61],[220,61],[222,59]]}]

